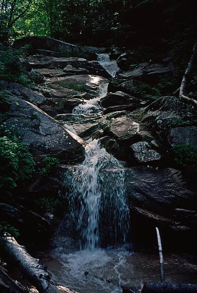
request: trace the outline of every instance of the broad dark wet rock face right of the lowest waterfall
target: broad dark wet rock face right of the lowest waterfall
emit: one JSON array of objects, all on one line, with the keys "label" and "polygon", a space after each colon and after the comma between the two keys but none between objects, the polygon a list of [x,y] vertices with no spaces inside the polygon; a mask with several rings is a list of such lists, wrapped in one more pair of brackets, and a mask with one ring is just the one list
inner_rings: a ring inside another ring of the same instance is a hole
[{"label": "broad dark wet rock face right of the lowest waterfall", "polygon": [[[180,171],[163,167],[131,167],[125,170],[125,184],[131,203],[133,233],[139,234],[141,230],[142,237],[143,233],[145,237],[147,234],[151,237],[151,230],[155,233],[156,226],[162,232],[168,231],[167,239],[170,231],[174,236],[179,233],[196,237],[196,190]],[[187,242],[188,238],[185,240]]]}]

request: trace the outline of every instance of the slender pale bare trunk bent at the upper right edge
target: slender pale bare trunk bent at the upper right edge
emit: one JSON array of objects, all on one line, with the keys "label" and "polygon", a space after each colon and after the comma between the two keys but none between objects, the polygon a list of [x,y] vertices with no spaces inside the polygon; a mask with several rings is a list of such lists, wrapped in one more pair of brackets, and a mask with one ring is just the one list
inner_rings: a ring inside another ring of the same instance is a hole
[{"label": "slender pale bare trunk bent at the upper right edge", "polygon": [[185,92],[186,92],[187,80],[188,80],[188,77],[191,75],[192,66],[193,66],[193,63],[194,63],[194,60],[195,60],[195,57],[196,57],[196,53],[197,53],[197,42],[194,44],[194,47],[193,47],[193,50],[192,50],[192,55],[190,57],[190,60],[188,62],[185,74],[183,76],[183,79],[182,79],[182,82],[181,82],[181,85],[180,85],[180,92],[179,92],[179,97],[181,99],[184,99],[184,100],[186,100],[188,102],[191,102],[195,106],[197,106],[197,101],[195,99],[193,99],[193,98],[187,97]]}]

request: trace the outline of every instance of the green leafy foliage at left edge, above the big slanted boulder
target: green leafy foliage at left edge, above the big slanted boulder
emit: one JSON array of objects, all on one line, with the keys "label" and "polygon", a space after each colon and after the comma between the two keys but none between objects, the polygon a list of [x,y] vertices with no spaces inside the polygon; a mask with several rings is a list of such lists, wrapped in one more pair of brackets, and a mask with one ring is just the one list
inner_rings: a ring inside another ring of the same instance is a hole
[{"label": "green leafy foliage at left edge, above the big slanted boulder", "polygon": [[9,82],[16,82],[24,86],[30,84],[30,80],[24,75],[24,68],[20,57],[24,50],[12,50],[0,51],[0,79]]}]

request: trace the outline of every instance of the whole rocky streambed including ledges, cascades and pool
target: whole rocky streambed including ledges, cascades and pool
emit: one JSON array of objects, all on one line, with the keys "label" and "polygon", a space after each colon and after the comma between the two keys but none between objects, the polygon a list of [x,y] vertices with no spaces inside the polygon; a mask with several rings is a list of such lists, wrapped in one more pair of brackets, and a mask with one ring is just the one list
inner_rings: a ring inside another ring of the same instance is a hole
[{"label": "whole rocky streambed including ledges, cascades and pool", "polygon": [[[195,283],[196,261],[188,254],[197,244],[195,184],[193,173],[185,176],[173,161],[172,149],[197,145],[196,112],[176,96],[136,89],[173,75],[173,63],[163,58],[128,70],[125,53],[116,61],[105,49],[71,47],[67,57],[62,42],[32,40],[28,75],[35,90],[4,81],[0,89],[9,90],[7,126],[21,132],[38,161],[51,156],[61,163],[27,191],[65,200],[41,254],[59,289],[119,293],[131,286],[137,292],[144,280],[158,281],[155,227],[166,280]],[[79,51],[80,58],[72,57]]]}]

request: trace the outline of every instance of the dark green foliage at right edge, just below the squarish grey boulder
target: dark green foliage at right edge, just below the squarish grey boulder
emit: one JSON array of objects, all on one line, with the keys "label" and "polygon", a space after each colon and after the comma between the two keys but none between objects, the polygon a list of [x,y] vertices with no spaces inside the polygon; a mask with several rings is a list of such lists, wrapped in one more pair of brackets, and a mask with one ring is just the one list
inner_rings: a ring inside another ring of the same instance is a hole
[{"label": "dark green foliage at right edge, just below the squarish grey boulder", "polygon": [[184,168],[197,171],[197,147],[191,145],[173,146],[175,162]]}]

